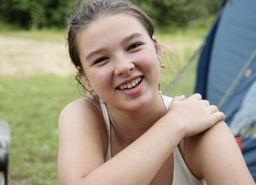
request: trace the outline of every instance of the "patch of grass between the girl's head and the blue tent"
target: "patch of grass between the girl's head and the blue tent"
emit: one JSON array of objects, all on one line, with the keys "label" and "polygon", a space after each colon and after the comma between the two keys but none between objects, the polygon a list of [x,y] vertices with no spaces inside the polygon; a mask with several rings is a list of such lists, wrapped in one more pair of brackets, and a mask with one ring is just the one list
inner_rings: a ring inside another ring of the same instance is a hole
[{"label": "patch of grass between the girl's head and the blue tent", "polygon": [[[165,68],[161,69],[162,92],[166,95],[192,95],[195,90],[197,60],[194,60],[185,71],[181,69],[187,64],[189,58],[203,43],[206,28],[194,30],[181,30],[173,34],[157,33],[156,37],[162,44]],[[173,78],[178,75],[176,83],[170,86]]]}]

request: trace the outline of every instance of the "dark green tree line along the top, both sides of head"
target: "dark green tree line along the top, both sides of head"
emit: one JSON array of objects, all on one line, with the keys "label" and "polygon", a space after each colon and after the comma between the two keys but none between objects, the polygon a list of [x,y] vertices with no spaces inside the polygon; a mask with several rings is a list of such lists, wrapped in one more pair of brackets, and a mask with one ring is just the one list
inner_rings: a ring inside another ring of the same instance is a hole
[{"label": "dark green tree line along the top, both sides of head", "polygon": [[[0,22],[20,28],[64,28],[74,0],[0,0]],[[184,28],[215,15],[222,0],[135,0],[162,28]]]}]

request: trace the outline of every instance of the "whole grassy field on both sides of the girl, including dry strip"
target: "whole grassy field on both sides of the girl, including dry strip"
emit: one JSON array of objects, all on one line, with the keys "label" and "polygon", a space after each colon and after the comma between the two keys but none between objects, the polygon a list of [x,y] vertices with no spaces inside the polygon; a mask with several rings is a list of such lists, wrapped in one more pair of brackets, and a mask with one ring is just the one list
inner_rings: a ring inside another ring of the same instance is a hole
[{"label": "whole grassy field on both sides of the girl, including dry strip", "polygon": [[[157,34],[159,43],[167,47],[169,61],[162,70],[163,90],[177,66],[183,66],[200,45],[204,33]],[[10,184],[58,184],[59,113],[80,97],[64,31],[2,31],[0,42],[0,119],[12,130]],[[183,74],[181,90],[177,86],[168,94],[192,93],[195,80],[186,76],[195,74],[195,65],[188,71]]]}]

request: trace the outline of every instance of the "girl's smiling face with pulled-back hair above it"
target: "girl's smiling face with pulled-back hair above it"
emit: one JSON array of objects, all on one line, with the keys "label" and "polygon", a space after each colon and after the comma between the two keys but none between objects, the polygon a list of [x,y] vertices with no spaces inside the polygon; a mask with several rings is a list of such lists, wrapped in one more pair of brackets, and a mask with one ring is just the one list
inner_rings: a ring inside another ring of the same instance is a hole
[{"label": "girl's smiling face with pulled-back hair above it", "polygon": [[78,50],[88,90],[109,106],[136,110],[158,95],[161,50],[131,15],[109,15],[78,36]]}]

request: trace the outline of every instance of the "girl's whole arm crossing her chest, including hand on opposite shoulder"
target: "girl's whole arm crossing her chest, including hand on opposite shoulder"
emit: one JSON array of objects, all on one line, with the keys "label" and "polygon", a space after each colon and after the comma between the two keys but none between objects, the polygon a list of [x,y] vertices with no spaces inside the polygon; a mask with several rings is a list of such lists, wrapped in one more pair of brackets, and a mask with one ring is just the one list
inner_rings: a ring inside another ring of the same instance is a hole
[{"label": "girl's whole arm crossing her chest, including hand on opposite shoulder", "polygon": [[[197,96],[181,99],[138,140],[105,163],[107,138],[99,131],[102,120],[89,106],[68,106],[59,118],[60,184],[149,184],[184,135],[203,131],[224,118],[213,115],[211,108],[205,111]],[[184,110],[187,119],[182,117]],[[184,124],[202,112],[204,119],[195,120],[195,127]]]}]

